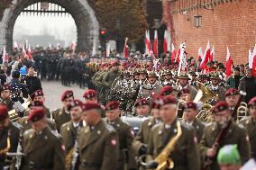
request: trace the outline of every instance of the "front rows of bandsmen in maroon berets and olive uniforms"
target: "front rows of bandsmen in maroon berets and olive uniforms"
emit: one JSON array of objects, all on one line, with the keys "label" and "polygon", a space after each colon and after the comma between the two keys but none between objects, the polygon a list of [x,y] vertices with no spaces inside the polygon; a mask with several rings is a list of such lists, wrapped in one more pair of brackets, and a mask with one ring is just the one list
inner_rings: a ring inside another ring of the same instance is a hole
[{"label": "front rows of bandsmen in maroon berets and olive uniforms", "polygon": [[[8,90],[5,85],[1,94]],[[250,116],[236,122],[242,95],[235,88],[225,92],[225,101],[215,104],[213,120],[205,124],[197,119],[197,103],[189,100],[178,115],[175,91],[167,85],[151,101],[142,97],[134,103],[139,131],[133,121],[127,121],[129,117],[120,117],[119,102],[111,100],[104,107],[92,89],[83,96],[81,102],[66,91],[61,95],[63,106],[50,112],[43,104],[43,92],[37,90],[18,123],[1,105],[0,167],[132,170],[173,164],[178,170],[217,170],[222,167],[217,164],[218,151],[228,144],[235,144],[241,157],[236,169],[255,158],[256,98],[248,103]]]}]

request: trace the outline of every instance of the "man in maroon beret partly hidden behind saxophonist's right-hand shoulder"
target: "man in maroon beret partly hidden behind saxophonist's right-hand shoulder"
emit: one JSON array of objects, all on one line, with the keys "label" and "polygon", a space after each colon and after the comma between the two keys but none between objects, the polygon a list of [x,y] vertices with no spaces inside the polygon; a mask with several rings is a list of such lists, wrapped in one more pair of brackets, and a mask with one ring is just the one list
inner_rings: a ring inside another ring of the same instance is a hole
[{"label": "man in maroon beret partly hidden behind saxophonist's right-hand shoulder", "polygon": [[205,124],[197,120],[197,114],[198,114],[197,103],[187,102],[184,104],[184,113],[183,113],[184,121],[187,124],[194,127],[197,134],[197,140],[200,141],[203,135]]}]

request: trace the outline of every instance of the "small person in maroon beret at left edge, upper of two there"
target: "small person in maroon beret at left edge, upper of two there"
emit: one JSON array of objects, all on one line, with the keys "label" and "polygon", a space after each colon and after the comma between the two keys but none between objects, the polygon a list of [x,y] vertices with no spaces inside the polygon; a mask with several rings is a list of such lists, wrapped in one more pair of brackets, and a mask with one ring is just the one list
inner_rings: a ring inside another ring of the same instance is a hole
[{"label": "small person in maroon beret at left edge, upper of two there", "polygon": [[14,101],[11,99],[11,86],[5,84],[1,87],[1,103],[7,106],[8,111],[12,111],[14,108]]}]

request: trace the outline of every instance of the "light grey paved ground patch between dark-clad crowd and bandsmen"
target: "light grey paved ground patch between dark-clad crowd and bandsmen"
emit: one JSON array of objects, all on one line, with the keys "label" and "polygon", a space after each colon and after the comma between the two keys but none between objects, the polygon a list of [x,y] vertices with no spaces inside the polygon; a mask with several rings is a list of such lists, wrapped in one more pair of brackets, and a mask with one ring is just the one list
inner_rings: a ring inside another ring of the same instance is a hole
[{"label": "light grey paved ground patch between dark-clad crowd and bandsmen", "polygon": [[45,105],[49,107],[51,111],[61,106],[60,96],[62,92],[69,89],[73,90],[76,99],[83,101],[82,95],[85,89],[80,89],[78,85],[67,87],[57,81],[42,81],[41,85],[45,95]]}]

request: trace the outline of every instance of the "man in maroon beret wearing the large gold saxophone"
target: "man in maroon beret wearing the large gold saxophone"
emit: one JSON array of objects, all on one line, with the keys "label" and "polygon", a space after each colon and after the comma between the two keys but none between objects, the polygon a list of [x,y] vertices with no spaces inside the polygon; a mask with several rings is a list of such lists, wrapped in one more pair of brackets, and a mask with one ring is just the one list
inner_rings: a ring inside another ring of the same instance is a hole
[{"label": "man in maroon beret wearing the large gold saxophone", "polygon": [[[178,101],[166,96],[160,100],[160,118],[162,122],[151,129],[148,154],[157,157],[165,147],[177,138],[171,158],[176,169],[200,170],[200,156],[197,150],[197,137],[195,130],[177,118]],[[148,162],[147,168],[155,169],[155,161]]]}]

